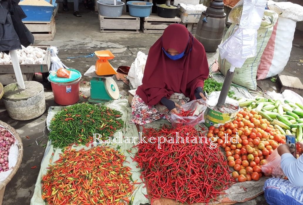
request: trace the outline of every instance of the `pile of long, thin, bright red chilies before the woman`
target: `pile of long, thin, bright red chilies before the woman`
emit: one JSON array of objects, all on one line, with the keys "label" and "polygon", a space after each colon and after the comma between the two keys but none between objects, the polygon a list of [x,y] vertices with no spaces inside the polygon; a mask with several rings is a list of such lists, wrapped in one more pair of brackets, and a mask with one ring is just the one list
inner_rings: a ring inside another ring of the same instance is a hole
[{"label": "pile of long, thin, bright red chilies before the woman", "polygon": [[[178,132],[179,143],[176,143],[175,132]],[[208,203],[235,182],[221,151],[211,149],[208,138],[202,138],[195,128],[163,126],[159,130],[144,129],[143,133],[145,141],[151,138],[152,143],[139,143],[134,160],[142,170],[151,204],[161,197],[181,203]],[[166,143],[158,136],[166,136]],[[161,149],[158,140],[163,143]]]}]

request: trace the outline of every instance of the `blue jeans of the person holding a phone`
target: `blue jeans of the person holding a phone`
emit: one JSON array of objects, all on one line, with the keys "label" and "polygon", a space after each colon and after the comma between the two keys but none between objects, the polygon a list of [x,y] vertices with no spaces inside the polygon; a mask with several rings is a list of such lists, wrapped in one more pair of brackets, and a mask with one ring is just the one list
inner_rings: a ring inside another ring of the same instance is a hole
[{"label": "blue jeans of the person holding a phone", "polygon": [[295,187],[288,180],[270,178],[265,181],[263,190],[269,205],[303,204],[303,187]]}]

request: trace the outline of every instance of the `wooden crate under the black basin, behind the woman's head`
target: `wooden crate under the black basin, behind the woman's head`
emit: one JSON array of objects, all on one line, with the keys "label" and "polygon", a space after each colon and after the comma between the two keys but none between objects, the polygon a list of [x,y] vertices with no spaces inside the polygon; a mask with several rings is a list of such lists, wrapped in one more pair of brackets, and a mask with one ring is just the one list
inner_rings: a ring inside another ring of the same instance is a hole
[{"label": "wooden crate under the black basin, behind the woman's head", "polygon": [[141,18],[141,29],[143,33],[163,34],[164,29],[170,24],[180,23],[181,18],[162,18],[158,15],[151,14],[148,17]]}]

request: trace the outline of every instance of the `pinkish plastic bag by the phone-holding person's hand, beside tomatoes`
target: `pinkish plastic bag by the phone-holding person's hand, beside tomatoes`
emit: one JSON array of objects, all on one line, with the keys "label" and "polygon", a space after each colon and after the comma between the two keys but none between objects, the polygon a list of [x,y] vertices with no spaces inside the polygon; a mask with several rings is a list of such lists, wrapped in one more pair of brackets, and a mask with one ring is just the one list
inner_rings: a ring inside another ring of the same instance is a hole
[{"label": "pinkish plastic bag by the phone-holding person's hand, beside tomatoes", "polygon": [[266,159],[266,164],[261,167],[265,176],[272,176],[283,179],[285,174],[281,168],[281,156],[278,154],[278,150],[275,149],[271,155]]}]

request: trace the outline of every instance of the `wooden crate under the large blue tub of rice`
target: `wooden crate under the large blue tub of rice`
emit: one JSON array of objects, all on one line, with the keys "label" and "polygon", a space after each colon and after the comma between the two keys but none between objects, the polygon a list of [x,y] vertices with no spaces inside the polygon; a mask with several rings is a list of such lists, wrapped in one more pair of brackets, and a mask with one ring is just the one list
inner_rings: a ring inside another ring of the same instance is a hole
[{"label": "wooden crate under the large blue tub of rice", "polygon": [[25,26],[35,37],[35,41],[51,41],[56,34],[55,18],[51,21],[24,21]]}]

